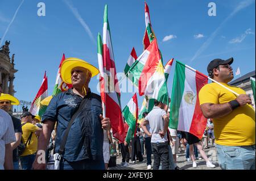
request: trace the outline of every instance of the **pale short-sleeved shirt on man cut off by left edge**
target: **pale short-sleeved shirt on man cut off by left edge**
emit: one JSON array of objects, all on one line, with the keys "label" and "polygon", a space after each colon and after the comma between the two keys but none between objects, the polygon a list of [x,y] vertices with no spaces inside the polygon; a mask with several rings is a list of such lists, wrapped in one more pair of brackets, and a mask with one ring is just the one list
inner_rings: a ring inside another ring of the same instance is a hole
[{"label": "pale short-sleeved shirt on man cut off by left edge", "polygon": [[13,120],[11,116],[0,110],[0,170],[3,170],[5,163],[5,145],[16,141]]}]

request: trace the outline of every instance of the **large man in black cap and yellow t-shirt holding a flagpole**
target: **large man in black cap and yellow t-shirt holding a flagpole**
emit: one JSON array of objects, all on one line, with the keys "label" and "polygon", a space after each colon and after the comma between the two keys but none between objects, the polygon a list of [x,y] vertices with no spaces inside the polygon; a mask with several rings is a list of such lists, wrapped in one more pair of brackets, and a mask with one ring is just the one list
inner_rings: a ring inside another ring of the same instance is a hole
[{"label": "large man in black cap and yellow t-shirt holding a flagpole", "polygon": [[214,59],[208,65],[209,77],[239,96],[218,85],[208,83],[199,92],[204,116],[213,119],[218,163],[222,169],[255,170],[255,110],[251,99],[239,87],[230,86],[233,58]]}]

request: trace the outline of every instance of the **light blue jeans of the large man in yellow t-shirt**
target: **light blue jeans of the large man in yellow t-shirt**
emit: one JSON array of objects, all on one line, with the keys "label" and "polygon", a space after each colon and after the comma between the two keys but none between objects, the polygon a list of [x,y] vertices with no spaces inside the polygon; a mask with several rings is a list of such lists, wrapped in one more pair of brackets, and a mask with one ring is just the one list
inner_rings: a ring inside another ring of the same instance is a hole
[{"label": "light blue jeans of the large man in yellow t-shirt", "polygon": [[224,170],[255,170],[255,145],[217,145],[218,165]]}]

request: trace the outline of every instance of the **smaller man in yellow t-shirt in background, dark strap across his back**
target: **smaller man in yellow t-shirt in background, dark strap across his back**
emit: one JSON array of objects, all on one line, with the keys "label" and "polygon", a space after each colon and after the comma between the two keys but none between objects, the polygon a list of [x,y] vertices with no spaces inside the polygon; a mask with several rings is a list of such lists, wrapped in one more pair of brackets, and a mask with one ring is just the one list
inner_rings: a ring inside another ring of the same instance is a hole
[{"label": "smaller man in yellow t-shirt in background, dark strap across his back", "polygon": [[20,155],[20,162],[22,164],[22,170],[31,170],[32,164],[35,161],[35,153],[38,150],[38,136],[42,130],[32,124],[33,116],[30,112],[22,113],[22,141],[27,143],[26,149]]}]

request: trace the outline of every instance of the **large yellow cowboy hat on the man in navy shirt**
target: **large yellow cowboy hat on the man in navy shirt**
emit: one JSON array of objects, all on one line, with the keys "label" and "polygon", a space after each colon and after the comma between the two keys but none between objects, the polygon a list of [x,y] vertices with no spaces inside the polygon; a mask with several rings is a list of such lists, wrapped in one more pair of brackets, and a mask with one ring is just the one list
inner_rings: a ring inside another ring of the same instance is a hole
[{"label": "large yellow cowboy hat on the man in navy shirt", "polygon": [[100,71],[95,66],[90,65],[88,62],[81,60],[80,58],[66,58],[60,68],[60,75],[63,82],[72,84],[71,71],[73,68],[78,66],[88,69],[92,74],[92,77],[100,73]]}]

